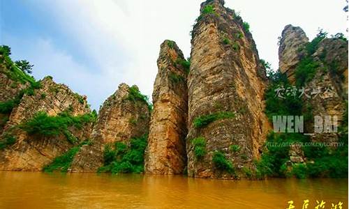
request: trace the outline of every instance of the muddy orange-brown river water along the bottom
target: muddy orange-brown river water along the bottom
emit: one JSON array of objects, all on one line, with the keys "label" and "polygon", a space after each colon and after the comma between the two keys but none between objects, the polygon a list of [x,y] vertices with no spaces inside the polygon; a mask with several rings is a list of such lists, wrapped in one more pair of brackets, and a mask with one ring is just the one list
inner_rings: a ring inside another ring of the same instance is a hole
[{"label": "muddy orange-brown river water along the bottom", "polygon": [[348,208],[348,179],[208,180],[185,176],[0,172],[0,208]]}]

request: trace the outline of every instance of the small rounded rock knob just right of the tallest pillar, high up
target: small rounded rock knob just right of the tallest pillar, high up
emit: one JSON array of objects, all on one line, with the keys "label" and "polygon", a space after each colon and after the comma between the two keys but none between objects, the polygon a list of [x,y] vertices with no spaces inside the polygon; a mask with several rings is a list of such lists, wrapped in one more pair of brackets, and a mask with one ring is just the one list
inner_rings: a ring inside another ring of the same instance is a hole
[{"label": "small rounded rock knob just right of the tallest pillar, high up", "polygon": [[279,68],[292,83],[295,82],[295,68],[303,55],[300,49],[308,42],[309,38],[300,27],[289,24],[283,29],[279,46]]}]

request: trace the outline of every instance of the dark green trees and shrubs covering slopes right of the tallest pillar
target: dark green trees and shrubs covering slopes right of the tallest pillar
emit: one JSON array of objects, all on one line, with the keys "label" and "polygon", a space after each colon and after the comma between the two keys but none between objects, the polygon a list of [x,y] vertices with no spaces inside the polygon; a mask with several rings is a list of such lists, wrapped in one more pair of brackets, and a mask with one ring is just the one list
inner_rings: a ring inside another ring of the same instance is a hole
[{"label": "dark green trees and shrubs covering slopes right of the tallest pillar", "polygon": [[[311,55],[318,49],[318,44],[326,38],[327,33],[320,31],[318,36],[309,42],[304,50],[306,55],[297,65],[295,79],[297,86],[304,86],[306,82],[313,79],[316,70],[320,68],[320,63],[313,60]],[[263,63],[263,61],[261,61]],[[327,65],[327,63],[325,63]],[[326,66],[325,66],[326,67]],[[332,66],[327,66],[331,68]],[[269,72],[269,80],[271,84],[266,91],[266,109],[265,112],[272,120],[272,116],[304,116],[304,123],[313,118],[311,104],[305,103],[299,99],[299,94],[287,95],[285,98],[276,96],[276,90],[283,88],[292,88],[288,79],[281,72]],[[278,176],[297,178],[348,178],[348,110],[344,123],[339,127],[339,142],[343,146],[338,148],[327,148],[325,146],[302,146],[306,164],[290,164],[289,150],[290,146],[282,146],[283,144],[296,144],[311,142],[309,136],[293,133],[270,133],[267,137],[267,150],[262,154],[261,159],[255,162],[257,166],[257,176]]]}]

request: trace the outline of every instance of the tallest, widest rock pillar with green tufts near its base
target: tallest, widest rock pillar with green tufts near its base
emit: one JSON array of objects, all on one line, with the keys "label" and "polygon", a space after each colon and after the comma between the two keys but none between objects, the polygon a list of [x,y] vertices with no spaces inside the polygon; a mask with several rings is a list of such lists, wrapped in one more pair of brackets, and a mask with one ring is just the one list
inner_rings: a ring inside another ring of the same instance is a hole
[{"label": "tallest, widest rock pillar with green tufts near its base", "polygon": [[248,24],[223,3],[201,4],[191,40],[186,149],[196,178],[244,178],[269,129],[265,68]]}]

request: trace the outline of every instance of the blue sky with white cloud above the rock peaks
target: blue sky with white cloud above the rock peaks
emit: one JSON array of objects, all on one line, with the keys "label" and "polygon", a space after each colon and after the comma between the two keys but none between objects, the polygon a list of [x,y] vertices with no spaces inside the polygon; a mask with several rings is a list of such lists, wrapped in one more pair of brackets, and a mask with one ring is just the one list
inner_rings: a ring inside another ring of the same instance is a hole
[{"label": "blue sky with white cloud above the rock peaks", "polygon": [[[0,44],[14,60],[34,64],[34,77],[87,95],[92,108],[121,82],[137,84],[151,96],[161,42],[174,40],[189,56],[189,32],[200,0],[0,0]],[[262,59],[278,67],[277,37],[286,24],[301,26],[309,38],[318,28],[346,34],[341,0],[226,0],[249,22]]]}]

